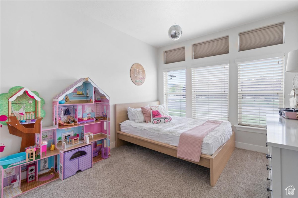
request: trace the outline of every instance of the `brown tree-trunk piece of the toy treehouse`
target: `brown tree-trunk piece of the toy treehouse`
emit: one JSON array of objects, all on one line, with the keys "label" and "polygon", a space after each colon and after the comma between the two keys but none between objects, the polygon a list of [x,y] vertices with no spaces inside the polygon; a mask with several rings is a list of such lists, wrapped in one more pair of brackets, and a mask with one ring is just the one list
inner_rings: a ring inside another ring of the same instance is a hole
[{"label": "brown tree-trunk piece of the toy treehouse", "polygon": [[10,121],[6,122],[9,133],[22,138],[20,152],[24,148],[35,144],[35,133],[41,132],[42,117],[36,118],[35,123],[28,123],[22,125],[16,116],[9,116]]}]

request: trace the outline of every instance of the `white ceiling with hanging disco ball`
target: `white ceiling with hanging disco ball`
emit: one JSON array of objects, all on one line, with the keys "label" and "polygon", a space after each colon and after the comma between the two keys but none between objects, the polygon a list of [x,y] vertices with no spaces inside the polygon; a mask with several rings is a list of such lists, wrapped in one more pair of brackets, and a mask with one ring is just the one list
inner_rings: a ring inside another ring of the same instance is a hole
[{"label": "white ceiling with hanging disco ball", "polygon": [[[298,1],[63,1],[119,31],[162,47],[298,9]],[[172,41],[168,29],[181,26]]]}]

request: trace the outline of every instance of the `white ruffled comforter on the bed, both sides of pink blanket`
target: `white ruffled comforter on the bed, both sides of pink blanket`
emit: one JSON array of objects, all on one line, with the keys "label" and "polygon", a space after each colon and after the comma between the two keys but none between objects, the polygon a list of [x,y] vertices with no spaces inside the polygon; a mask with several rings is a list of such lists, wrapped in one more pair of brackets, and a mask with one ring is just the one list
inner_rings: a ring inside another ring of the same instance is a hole
[{"label": "white ruffled comforter on the bed, both sides of pink blanket", "polygon": [[[120,125],[129,125],[140,130],[147,130],[153,133],[168,134],[174,136],[180,136],[181,133],[192,129],[195,126],[203,124],[206,120],[203,119],[191,119],[184,117],[172,116],[173,120],[169,123],[136,123],[134,121],[126,120]],[[232,135],[232,127],[230,122],[224,121],[216,129],[207,134],[203,140],[203,143],[219,145],[218,148],[223,145]]]}]

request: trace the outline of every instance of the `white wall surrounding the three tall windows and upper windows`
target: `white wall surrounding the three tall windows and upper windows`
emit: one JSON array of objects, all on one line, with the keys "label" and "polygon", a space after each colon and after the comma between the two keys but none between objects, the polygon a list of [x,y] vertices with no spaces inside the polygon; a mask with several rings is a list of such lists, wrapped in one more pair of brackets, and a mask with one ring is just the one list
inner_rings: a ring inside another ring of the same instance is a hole
[{"label": "white wall surrounding the three tall windows and upper windows", "polygon": [[[237,16],[235,16],[237,17]],[[204,19],[202,19],[204,20]],[[254,50],[247,50],[238,52],[238,33],[254,28],[271,25],[278,22],[285,22],[285,43],[281,45],[274,45],[269,47],[262,47]],[[202,27],[204,28],[204,27]],[[183,27],[182,27],[183,29]],[[187,32],[183,32],[187,34]],[[212,56],[206,58],[200,58],[192,60],[192,44],[203,42],[218,37],[229,35],[229,54]],[[183,37],[183,35],[182,35]],[[165,50],[174,49],[177,47],[185,46],[186,59],[185,61],[163,64],[163,52]],[[282,15],[266,18],[246,25],[238,26],[235,28],[227,29],[225,31],[216,32],[206,36],[190,39],[184,42],[177,42],[173,45],[161,47],[158,49],[158,99],[163,102],[163,69],[186,67],[186,115],[191,118],[191,69],[193,67],[210,66],[229,63],[229,121],[232,125],[238,125],[238,106],[237,106],[237,78],[238,69],[235,59],[251,58],[266,56],[276,53],[285,53],[285,62],[288,57],[288,52],[298,49],[298,10],[288,12]],[[293,85],[292,79],[296,73],[285,73],[285,107],[289,107],[288,94],[290,93]],[[241,130],[241,131],[240,131]],[[266,152],[266,131],[265,130],[251,130],[240,129],[236,130],[233,127],[233,131],[236,133],[236,147],[245,148],[254,151]],[[248,131],[244,131],[248,130]],[[252,132],[254,131],[254,132]]]}]

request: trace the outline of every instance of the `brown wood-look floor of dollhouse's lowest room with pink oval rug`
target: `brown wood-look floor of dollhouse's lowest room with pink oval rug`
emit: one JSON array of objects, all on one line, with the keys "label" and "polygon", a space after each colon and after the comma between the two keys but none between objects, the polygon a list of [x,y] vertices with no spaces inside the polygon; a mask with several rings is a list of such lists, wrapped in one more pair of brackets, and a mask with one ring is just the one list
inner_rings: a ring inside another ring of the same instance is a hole
[{"label": "brown wood-look floor of dollhouse's lowest room with pink oval rug", "polygon": [[27,183],[27,179],[21,180],[21,191],[24,193],[26,191],[29,191],[31,189],[34,189],[38,186],[44,185],[50,181],[53,181],[53,180],[56,180],[59,178],[59,174],[56,173],[53,168],[51,168],[51,170],[49,172],[38,175],[38,178],[48,176],[51,173],[54,173],[54,177],[49,180],[46,180],[46,181],[32,181],[32,182]]}]

